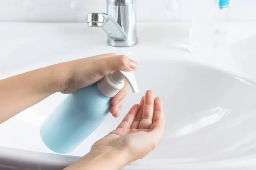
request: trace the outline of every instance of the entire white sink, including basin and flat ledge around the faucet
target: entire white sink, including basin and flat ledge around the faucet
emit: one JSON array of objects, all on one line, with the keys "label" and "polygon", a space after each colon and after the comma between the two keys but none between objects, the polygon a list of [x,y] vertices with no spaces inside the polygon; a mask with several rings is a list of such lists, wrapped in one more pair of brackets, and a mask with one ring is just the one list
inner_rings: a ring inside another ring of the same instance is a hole
[{"label": "entire white sink, including basin and flat ledge around the faucet", "polygon": [[[57,62],[114,52],[139,62],[135,74],[140,88],[140,94],[128,94],[119,118],[110,116],[68,155],[53,153],[39,136],[41,122],[65,98],[64,94],[54,94],[23,111],[0,125],[0,166],[36,170],[67,166],[116,128],[129,108],[152,89],[164,102],[165,136],[148,156],[123,169],[256,169],[256,86],[232,74],[192,63],[256,79],[255,24],[233,23],[230,41],[238,43],[230,51],[204,51],[197,55],[183,48],[189,26],[182,23],[138,23],[139,43],[129,48],[108,46],[105,32],[90,29],[85,23],[0,25],[0,79]],[[245,38],[248,39],[241,43]]]}]

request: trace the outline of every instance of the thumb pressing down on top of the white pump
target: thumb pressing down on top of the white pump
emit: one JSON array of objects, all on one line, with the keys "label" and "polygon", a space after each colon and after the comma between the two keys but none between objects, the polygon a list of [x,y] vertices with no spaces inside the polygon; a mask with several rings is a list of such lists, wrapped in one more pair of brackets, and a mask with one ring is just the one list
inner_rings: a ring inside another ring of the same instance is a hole
[{"label": "thumb pressing down on top of the white pump", "polygon": [[96,60],[96,72],[100,76],[105,76],[112,71],[134,71],[137,69],[137,62],[129,59],[125,55],[105,57]]}]

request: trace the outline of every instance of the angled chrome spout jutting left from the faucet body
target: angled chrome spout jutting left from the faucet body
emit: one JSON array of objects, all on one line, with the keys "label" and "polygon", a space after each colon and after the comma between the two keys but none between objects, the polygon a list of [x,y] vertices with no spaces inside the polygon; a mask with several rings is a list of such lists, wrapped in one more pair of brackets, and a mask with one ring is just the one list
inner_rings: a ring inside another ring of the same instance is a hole
[{"label": "angled chrome spout jutting left from the faucet body", "polygon": [[89,13],[87,14],[87,25],[90,27],[102,27],[108,34],[108,37],[116,41],[125,40],[127,38],[125,31],[109,14]]}]

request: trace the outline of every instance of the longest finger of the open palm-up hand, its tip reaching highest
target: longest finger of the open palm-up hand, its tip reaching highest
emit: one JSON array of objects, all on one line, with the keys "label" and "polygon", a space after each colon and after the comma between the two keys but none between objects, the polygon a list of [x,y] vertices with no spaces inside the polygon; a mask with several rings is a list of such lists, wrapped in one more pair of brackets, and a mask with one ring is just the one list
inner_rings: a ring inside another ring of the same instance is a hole
[{"label": "longest finger of the open palm-up hand, its tip reaching highest", "polygon": [[154,92],[146,91],[145,102],[143,107],[142,119],[140,121],[139,129],[148,129],[152,124],[154,114]]}]

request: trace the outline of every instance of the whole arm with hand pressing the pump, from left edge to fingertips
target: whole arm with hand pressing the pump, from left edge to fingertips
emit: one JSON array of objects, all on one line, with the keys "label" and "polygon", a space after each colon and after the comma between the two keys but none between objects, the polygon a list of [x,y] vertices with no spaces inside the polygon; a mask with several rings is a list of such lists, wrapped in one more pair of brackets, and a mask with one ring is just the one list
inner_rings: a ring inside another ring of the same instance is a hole
[{"label": "whole arm with hand pressing the pump, from left edge to fingertips", "polygon": [[[103,54],[1,79],[0,124],[56,92],[73,93],[99,81],[112,71],[134,71],[136,68],[137,63],[125,55]],[[114,117],[119,116],[129,88],[125,82],[125,87],[113,97],[110,112]]]}]

